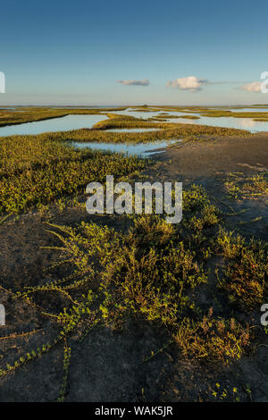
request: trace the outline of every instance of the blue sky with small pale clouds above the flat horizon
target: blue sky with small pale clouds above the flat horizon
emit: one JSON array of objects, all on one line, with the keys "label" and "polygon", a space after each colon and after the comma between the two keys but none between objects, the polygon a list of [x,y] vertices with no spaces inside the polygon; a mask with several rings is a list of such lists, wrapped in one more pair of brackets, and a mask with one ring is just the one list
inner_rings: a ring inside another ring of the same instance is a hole
[{"label": "blue sky with small pale clouds above the flat horizon", "polygon": [[0,105],[268,104],[268,2],[3,0]]}]

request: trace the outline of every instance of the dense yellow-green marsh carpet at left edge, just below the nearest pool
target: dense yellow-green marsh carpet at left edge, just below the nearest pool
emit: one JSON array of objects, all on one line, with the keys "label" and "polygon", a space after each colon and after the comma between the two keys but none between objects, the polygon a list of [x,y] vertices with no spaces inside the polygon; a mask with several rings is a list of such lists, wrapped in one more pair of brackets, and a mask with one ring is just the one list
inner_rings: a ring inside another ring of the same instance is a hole
[{"label": "dense yellow-green marsh carpet at left edge, just below the nearest pool", "polygon": [[77,195],[90,181],[105,181],[111,173],[128,176],[147,164],[133,156],[74,150],[46,136],[3,139],[0,155],[0,214]]}]

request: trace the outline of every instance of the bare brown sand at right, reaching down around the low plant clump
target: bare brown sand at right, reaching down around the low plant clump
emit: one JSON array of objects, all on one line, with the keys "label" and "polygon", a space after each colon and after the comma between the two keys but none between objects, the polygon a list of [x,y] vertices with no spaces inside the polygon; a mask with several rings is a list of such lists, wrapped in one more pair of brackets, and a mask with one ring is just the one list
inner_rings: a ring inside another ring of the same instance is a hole
[{"label": "bare brown sand at right, reaching down around the low plant clump", "polygon": [[[231,229],[237,228],[236,223],[246,223],[244,227],[239,225],[240,233],[247,237],[267,239],[267,197],[231,200],[224,182],[230,172],[253,176],[268,171],[268,133],[245,138],[185,141],[162,150],[154,158],[161,162],[161,169],[156,173],[149,172],[152,181],[158,181],[160,176],[164,181],[182,181],[183,188],[188,188],[192,183],[203,186],[223,212],[226,212],[226,205],[238,213],[247,210],[245,214],[231,218]],[[260,220],[250,223],[256,217],[260,217]]]}]

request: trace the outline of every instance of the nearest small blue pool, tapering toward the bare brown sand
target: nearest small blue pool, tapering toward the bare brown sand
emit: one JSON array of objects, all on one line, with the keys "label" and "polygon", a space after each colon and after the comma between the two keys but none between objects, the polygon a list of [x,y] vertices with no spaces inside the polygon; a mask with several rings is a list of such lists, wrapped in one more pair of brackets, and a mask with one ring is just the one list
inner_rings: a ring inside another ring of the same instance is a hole
[{"label": "nearest small blue pool, tapering toward the bare brown sand", "polygon": [[94,150],[103,150],[110,152],[123,153],[128,155],[139,155],[141,157],[148,157],[153,155],[158,151],[159,148],[165,148],[168,145],[177,143],[181,140],[161,140],[147,142],[147,143],[104,143],[104,142],[94,142],[94,143],[80,143],[72,142],[71,146],[75,148],[92,148]]}]

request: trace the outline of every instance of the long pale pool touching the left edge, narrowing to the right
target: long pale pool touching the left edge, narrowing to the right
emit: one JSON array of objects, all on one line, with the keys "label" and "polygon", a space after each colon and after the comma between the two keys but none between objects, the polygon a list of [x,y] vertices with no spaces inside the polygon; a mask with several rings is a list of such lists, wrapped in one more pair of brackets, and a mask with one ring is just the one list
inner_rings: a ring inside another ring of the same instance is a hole
[{"label": "long pale pool touching the left edge, narrowing to the right", "polygon": [[38,122],[23,122],[22,124],[9,125],[0,128],[1,136],[13,136],[14,134],[41,134],[49,131],[69,131],[87,128],[90,129],[96,122],[106,120],[103,115],[66,115],[61,118]]}]

